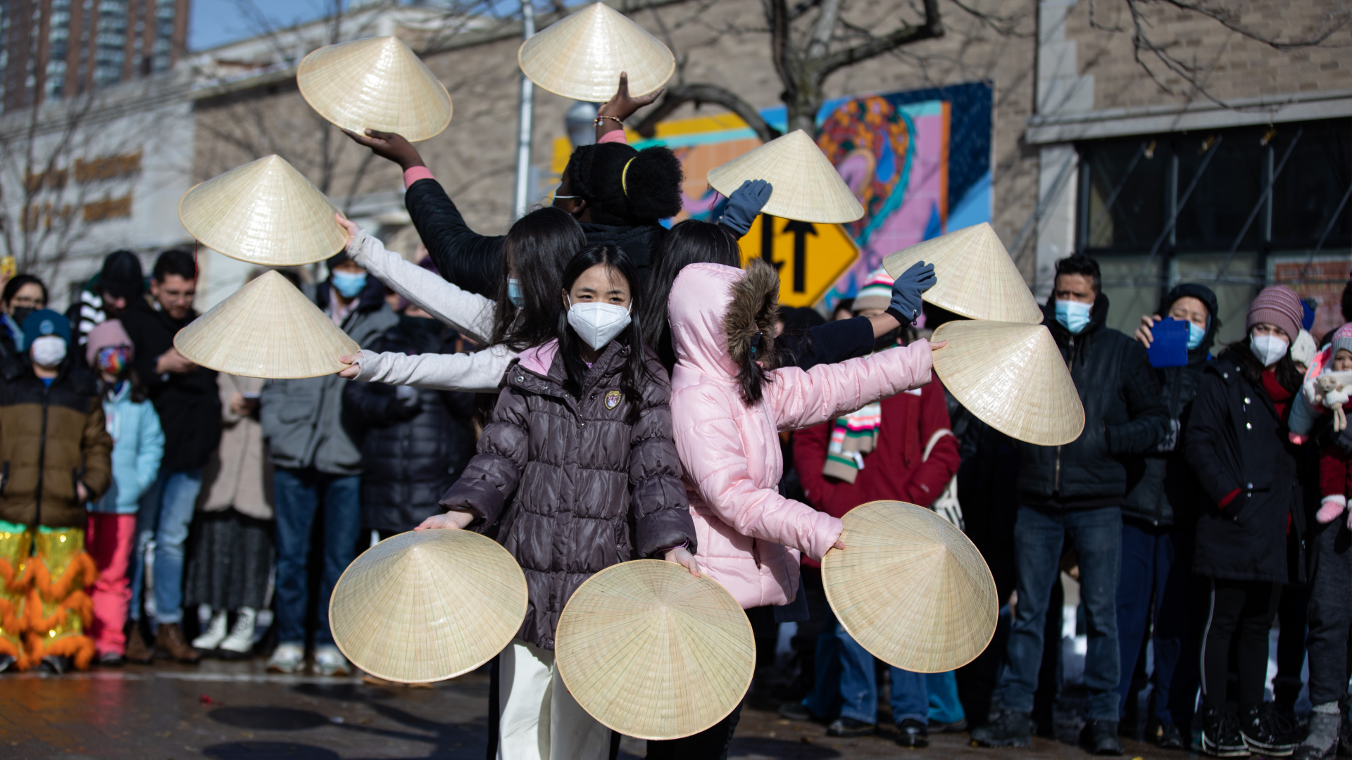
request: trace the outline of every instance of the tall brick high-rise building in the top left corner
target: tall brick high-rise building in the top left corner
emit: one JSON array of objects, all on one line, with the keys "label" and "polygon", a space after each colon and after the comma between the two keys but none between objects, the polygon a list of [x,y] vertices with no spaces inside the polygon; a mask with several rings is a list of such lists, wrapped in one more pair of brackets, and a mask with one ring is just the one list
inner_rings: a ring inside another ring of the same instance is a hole
[{"label": "tall brick high-rise building in the top left corner", "polygon": [[0,0],[0,111],[169,70],[191,0]]}]

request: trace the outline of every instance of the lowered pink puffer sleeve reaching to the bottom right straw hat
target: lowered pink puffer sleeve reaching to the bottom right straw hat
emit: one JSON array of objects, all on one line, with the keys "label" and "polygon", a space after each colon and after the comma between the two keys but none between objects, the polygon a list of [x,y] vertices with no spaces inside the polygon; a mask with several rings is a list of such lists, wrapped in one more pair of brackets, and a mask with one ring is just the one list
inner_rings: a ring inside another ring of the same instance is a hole
[{"label": "lowered pink puffer sleeve reaching to the bottom right straw hat", "polygon": [[676,450],[687,479],[699,488],[704,504],[737,533],[821,560],[840,538],[841,521],[780,496],[775,487],[756,485],[746,465],[741,429],[733,417],[734,403],[741,400],[710,385],[691,385],[677,392],[673,406],[681,414],[675,418]]}]

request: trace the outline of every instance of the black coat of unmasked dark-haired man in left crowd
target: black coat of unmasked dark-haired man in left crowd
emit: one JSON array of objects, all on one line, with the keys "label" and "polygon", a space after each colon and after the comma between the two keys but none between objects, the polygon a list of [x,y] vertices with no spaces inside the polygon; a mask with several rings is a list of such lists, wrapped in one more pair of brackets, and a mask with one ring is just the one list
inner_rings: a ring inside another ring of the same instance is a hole
[{"label": "black coat of unmasked dark-haired man in left crowd", "polygon": [[[160,356],[173,348],[173,337],[193,319],[170,318],[142,298],[127,299],[127,310],[118,319],[131,338],[137,375],[150,391],[150,402],[165,431],[165,457],[161,472],[180,472],[204,467],[220,445],[220,389],[216,371],[199,366],[192,372],[155,373]],[[81,356],[84,352],[80,352]]]}]

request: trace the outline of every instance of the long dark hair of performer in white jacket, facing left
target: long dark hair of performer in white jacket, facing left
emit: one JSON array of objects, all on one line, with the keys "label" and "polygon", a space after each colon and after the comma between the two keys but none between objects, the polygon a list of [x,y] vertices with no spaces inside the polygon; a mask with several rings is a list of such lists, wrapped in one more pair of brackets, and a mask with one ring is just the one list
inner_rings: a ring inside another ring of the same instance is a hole
[{"label": "long dark hair of performer in white jacket, facing left", "polygon": [[[581,226],[562,208],[546,206],[522,216],[503,241],[503,275],[498,285],[498,311],[489,345],[523,352],[556,337],[562,312],[560,273],[573,254],[587,246]],[[516,308],[507,298],[512,265],[525,304]]]}]

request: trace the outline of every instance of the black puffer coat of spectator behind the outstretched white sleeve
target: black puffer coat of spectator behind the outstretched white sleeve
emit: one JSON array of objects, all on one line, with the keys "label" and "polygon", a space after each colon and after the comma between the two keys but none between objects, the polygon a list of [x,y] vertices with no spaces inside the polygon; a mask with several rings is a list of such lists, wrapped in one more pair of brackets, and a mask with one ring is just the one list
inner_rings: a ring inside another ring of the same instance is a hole
[{"label": "black puffer coat of spectator behind the outstretched white sleeve", "polygon": [[[430,322],[427,330],[422,322]],[[454,330],[434,319],[400,319],[370,350],[454,353]],[[343,404],[361,438],[361,525],[403,533],[431,515],[475,456],[473,394],[410,388],[411,403],[384,383],[349,383]]]}]

